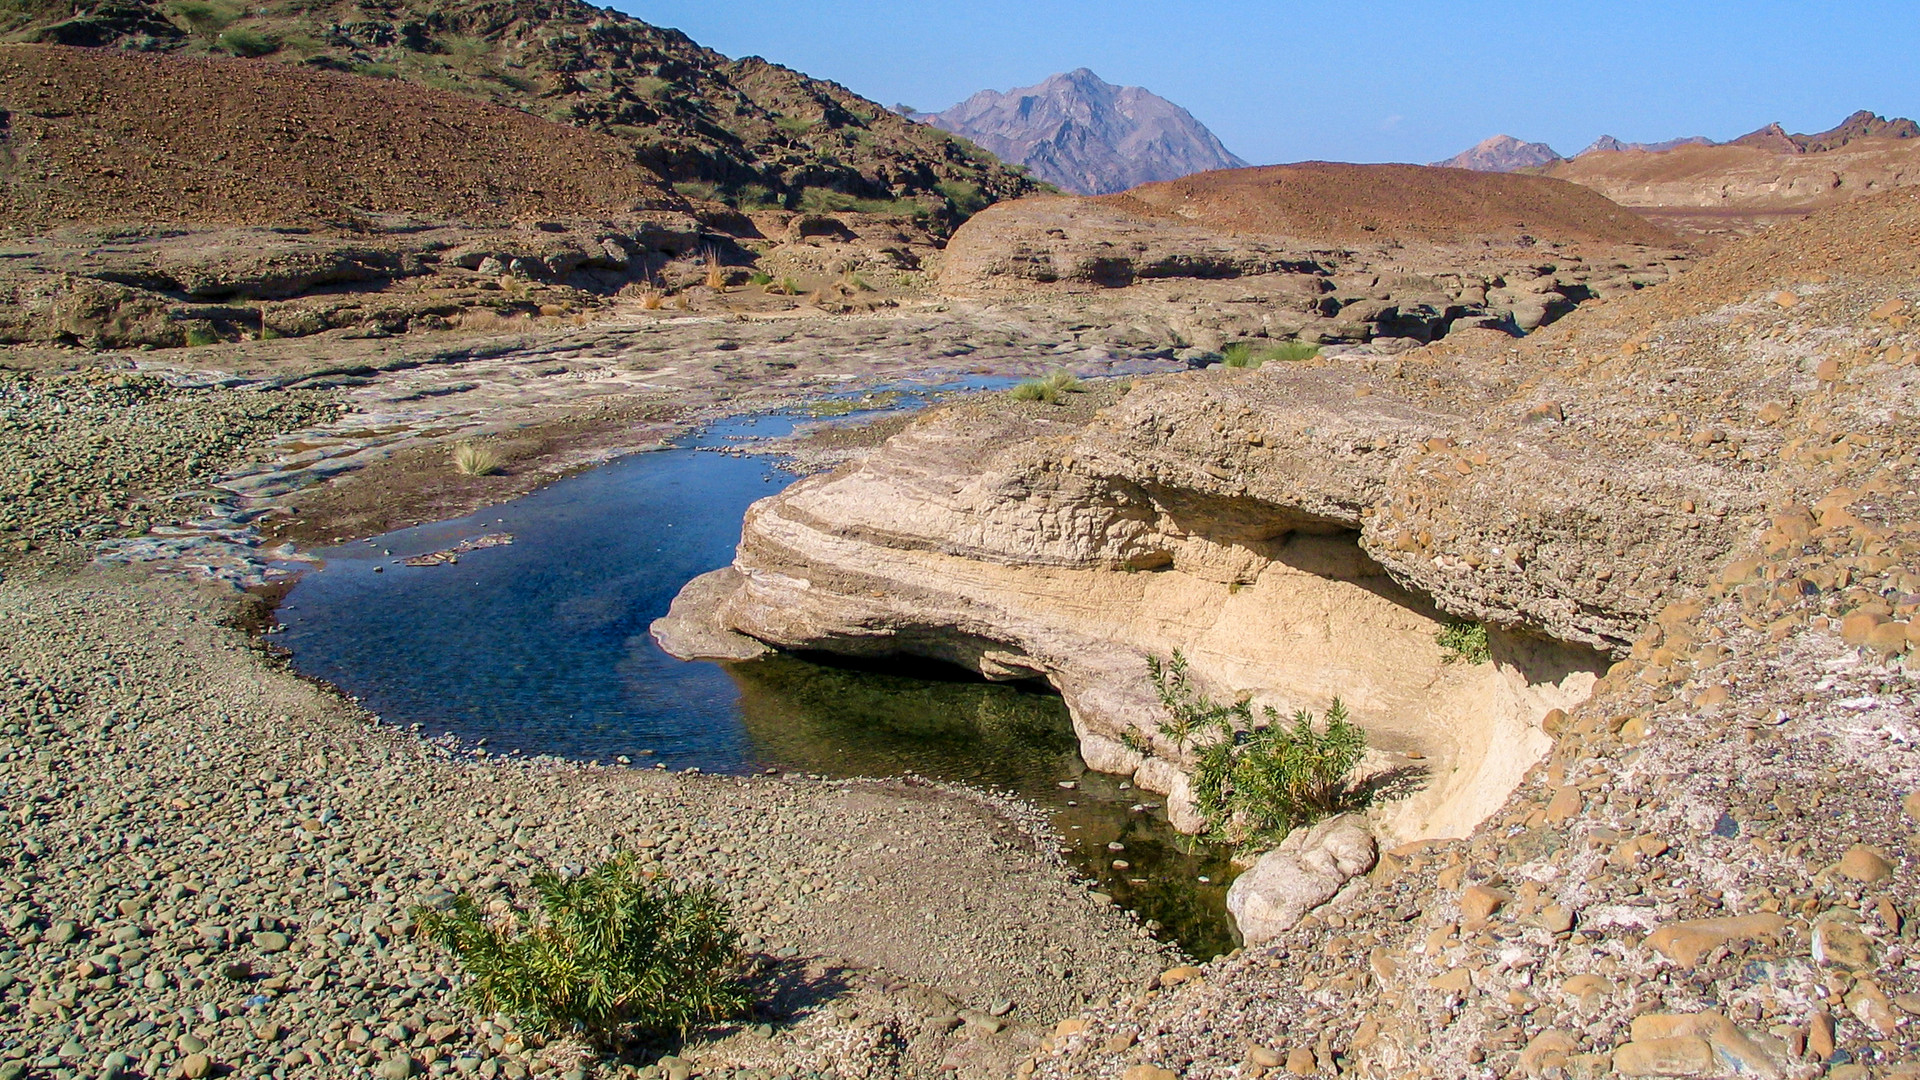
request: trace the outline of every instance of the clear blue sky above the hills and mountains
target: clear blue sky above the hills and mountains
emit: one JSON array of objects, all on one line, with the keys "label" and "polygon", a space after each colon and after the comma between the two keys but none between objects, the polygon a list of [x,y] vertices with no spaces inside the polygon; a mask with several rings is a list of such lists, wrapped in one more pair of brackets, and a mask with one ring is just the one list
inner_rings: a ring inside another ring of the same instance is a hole
[{"label": "clear blue sky above the hills and mountains", "polygon": [[1574,154],[1599,135],[1824,131],[1920,113],[1920,0],[1747,4],[1142,0],[616,0],[728,56],[883,104],[1091,67],[1162,94],[1254,163],[1432,161],[1496,133]]}]

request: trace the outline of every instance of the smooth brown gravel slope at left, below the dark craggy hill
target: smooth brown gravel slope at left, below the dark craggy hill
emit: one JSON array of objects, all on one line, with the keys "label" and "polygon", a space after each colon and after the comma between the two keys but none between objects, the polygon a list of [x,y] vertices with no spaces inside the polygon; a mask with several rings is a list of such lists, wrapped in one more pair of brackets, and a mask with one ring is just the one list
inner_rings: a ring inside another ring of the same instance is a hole
[{"label": "smooth brown gravel slope at left, below the dark craggy hill", "polygon": [[628,211],[676,196],[609,136],[252,60],[0,48],[0,227]]}]

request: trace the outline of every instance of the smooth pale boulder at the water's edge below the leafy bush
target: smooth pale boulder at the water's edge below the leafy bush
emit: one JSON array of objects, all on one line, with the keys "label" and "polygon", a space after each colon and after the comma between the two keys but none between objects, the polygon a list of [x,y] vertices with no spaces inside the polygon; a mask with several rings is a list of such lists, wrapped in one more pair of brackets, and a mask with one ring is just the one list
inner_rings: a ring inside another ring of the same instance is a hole
[{"label": "smooth pale boulder at the water's edge below the leafy bush", "polygon": [[1248,945],[1263,945],[1371,871],[1373,859],[1373,834],[1352,815],[1296,828],[1235,878],[1227,911]]}]

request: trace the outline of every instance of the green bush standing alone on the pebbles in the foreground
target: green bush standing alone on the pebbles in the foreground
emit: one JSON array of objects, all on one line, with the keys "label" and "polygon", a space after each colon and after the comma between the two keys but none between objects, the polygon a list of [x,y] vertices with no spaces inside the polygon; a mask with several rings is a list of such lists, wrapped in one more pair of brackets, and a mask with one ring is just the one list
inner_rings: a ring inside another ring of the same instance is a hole
[{"label": "green bush standing alone on the pebbles in the foreground", "polygon": [[739,936],[712,888],[651,880],[632,853],[563,878],[536,874],[540,913],[488,919],[459,894],[447,911],[417,907],[420,936],[467,969],[480,1013],[607,1045],[622,1030],[685,1034],[739,1015]]}]

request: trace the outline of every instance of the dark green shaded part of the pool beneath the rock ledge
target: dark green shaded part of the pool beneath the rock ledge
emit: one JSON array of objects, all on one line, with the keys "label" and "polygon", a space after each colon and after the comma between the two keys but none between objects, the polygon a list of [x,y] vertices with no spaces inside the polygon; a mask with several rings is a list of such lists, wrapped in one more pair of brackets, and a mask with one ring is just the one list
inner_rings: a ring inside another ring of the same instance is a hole
[{"label": "dark green shaded part of the pool beneath the rock ledge", "polygon": [[1087,771],[1066,703],[1050,690],[937,665],[876,671],[791,655],[728,673],[760,757],[826,776],[916,773],[1014,792],[1052,813],[1064,855],[1102,894],[1194,957],[1233,949],[1227,849],[1177,834],[1160,796]]}]

